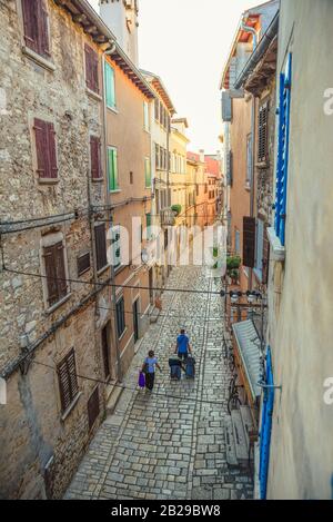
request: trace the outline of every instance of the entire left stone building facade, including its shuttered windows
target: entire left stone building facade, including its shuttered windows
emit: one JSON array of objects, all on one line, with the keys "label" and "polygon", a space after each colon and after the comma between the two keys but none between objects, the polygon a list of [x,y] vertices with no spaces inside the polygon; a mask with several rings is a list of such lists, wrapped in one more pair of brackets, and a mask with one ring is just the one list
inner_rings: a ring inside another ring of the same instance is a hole
[{"label": "entire left stone building facade, including its shuttered windows", "polygon": [[0,496],[60,498],[103,418],[110,374],[99,211],[113,36],[85,0],[1,1],[0,35]]}]

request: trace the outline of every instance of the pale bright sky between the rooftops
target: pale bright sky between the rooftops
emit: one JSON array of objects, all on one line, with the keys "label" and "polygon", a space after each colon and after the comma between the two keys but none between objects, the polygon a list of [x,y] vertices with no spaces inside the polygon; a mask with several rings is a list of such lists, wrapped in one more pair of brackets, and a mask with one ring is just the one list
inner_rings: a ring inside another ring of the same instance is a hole
[{"label": "pale bright sky between the rooftops", "polygon": [[188,118],[191,150],[214,154],[221,145],[221,73],[242,12],[260,3],[139,0],[140,67],[162,78],[178,116]]}]

